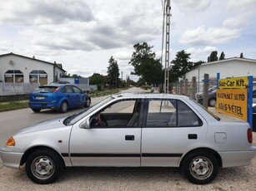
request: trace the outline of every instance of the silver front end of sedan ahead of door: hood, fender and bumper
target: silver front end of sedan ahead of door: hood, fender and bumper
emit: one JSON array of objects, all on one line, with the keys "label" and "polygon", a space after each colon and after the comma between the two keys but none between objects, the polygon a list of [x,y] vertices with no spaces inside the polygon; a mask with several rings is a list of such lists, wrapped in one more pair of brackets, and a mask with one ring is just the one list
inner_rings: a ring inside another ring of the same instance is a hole
[{"label": "silver front end of sedan ahead of door: hood, fender and bumper", "polygon": [[[21,163],[21,156],[28,149],[39,146],[54,149],[59,154],[68,153],[68,141],[72,126],[63,125],[65,118],[43,121],[13,135],[16,142],[15,147],[4,146],[0,150],[3,165],[17,168]],[[13,159],[18,156],[19,159]],[[64,162],[66,166],[71,166],[70,159],[64,158]]]}]

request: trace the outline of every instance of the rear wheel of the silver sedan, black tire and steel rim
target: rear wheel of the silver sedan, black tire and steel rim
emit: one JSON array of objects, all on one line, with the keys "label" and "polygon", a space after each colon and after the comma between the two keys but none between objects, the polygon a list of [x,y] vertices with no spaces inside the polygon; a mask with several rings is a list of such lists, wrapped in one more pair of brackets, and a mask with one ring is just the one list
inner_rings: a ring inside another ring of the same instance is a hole
[{"label": "rear wheel of the silver sedan, black tire and steel rim", "polygon": [[208,184],[218,174],[218,160],[207,151],[195,151],[183,159],[184,176],[193,184]]}]

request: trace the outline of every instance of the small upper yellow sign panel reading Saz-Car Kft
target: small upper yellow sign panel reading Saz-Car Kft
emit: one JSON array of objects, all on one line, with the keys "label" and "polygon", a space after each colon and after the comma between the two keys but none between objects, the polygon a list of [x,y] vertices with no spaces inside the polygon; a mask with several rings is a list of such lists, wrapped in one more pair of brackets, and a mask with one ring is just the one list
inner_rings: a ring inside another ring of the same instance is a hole
[{"label": "small upper yellow sign panel reading Saz-Car Kft", "polygon": [[219,89],[248,88],[248,77],[234,77],[218,81]]}]

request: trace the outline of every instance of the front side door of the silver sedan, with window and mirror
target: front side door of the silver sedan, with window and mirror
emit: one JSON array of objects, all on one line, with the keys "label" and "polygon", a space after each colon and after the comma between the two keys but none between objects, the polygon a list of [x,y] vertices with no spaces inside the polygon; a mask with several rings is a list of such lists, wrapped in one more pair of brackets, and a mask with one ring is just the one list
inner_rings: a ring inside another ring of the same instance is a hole
[{"label": "front side door of the silver sedan, with window and mirror", "polygon": [[[73,125],[69,148],[73,166],[140,166],[141,123],[133,117],[138,101],[103,106],[89,115],[89,129]],[[141,109],[139,105],[136,111]]]}]

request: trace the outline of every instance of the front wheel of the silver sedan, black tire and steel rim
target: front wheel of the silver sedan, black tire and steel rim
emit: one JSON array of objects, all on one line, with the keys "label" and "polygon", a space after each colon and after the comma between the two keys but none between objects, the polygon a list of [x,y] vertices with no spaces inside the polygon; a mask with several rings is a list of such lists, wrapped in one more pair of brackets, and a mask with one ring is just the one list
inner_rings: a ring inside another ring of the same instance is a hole
[{"label": "front wheel of the silver sedan, black tire and steel rim", "polygon": [[25,170],[37,184],[53,183],[63,172],[63,160],[51,149],[36,150],[28,156]]}]

